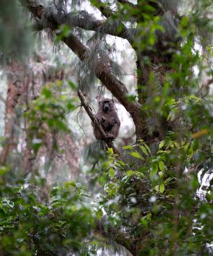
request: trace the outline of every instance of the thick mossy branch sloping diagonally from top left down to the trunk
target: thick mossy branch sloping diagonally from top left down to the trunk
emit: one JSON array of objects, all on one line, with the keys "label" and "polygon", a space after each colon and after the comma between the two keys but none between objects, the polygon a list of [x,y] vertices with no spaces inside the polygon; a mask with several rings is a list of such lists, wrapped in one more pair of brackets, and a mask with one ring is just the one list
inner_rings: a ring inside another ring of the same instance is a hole
[{"label": "thick mossy branch sloping diagonally from top left down to the trunk", "polygon": [[[34,1],[30,0],[20,0],[22,4],[25,4],[29,11],[31,11],[35,17],[39,20],[43,15],[45,15],[45,19],[50,25],[50,28],[53,32],[56,32],[57,28],[59,27],[59,22],[57,17],[55,17],[54,13],[47,12],[43,7],[43,11],[41,11],[41,5],[37,4]],[[32,5],[32,6],[31,6]],[[62,39],[66,45],[73,50],[73,52],[78,55],[78,58],[82,62],[87,62],[89,58],[89,49],[84,46],[81,41],[78,39],[77,36],[70,33],[68,37],[64,37]],[[105,65],[103,61],[99,61],[96,63],[96,67],[94,67],[96,77],[100,79],[101,83],[110,90],[112,95],[114,95],[117,100],[126,108],[127,112],[131,114],[133,121],[135,123],[135,133],[137,139],[143,138],[145,136],[145,112],[141,111],[141,105],[138,102],[131,102],[128,100],[128,90],[124,83],[119,81],[113,74],[110,72],[110,67]]]}]

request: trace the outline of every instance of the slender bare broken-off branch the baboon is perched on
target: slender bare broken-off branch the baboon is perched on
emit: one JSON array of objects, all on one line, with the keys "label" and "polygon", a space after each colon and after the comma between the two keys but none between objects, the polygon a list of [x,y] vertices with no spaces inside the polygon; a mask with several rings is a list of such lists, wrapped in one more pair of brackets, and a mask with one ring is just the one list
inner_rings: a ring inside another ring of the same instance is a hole
[{"label": "slender bare broken-off branch the baboon is perched on", "polygon": [[101,136],[104,137],[106,144],[108,144],[108,147],[112,148],[113,152],[115,154],[119,155],[119,151],[116,149],[114,144],[108,140],[108,136],[105,134],[105,131],[101,127],[100,123],[98,123],[96,116],[94,116],[94,114],[91,112],[91,110],[89,108],[89,104],[86,102],[85,97],[84,97],[84,95],[82,95],[81,90],[78,90],[78,97],[80,98],[80,102],[81,102],[82,106],[85,108],[89,118],[94,123],[94,126],[96,126],[96,128],[98,128],[99,133],[101,133]]}]

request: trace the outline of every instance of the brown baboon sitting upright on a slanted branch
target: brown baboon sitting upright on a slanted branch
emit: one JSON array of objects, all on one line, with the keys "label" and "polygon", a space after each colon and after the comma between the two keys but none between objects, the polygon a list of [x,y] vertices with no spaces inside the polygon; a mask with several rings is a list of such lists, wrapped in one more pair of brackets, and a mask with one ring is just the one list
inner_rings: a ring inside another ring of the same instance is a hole
[{"label": "brown baboon sitting upright on a slanted branch", "polygon": [[[101,124],[103,130],[108,136],[108,140],[115,140],[119,133],[119,128],[121,122],[117,116],[117,112],[115,110],[115,102],[114,100],[104,99],[98,102],[98,112],[96,114],[96,119],[98,123]],[[96,140],[103,140],[104,138],[99,133],[98,129],[94,126],[94,135]]]}]

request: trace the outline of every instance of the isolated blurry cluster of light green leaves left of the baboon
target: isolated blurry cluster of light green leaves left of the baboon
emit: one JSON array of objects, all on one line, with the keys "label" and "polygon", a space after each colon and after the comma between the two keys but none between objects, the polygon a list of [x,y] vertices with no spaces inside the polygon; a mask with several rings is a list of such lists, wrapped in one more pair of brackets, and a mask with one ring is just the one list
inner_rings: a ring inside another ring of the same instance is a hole
[{"label": "isolated blurry cluster of light green leaves left of the baboon", "polygon": [[[70,86],[72,88],[74,83],[70,82]],[[61,93],[62,88],[61,81],[48,83],[42,88],[40,97],[31,100],[27,112],[24,113],[28,123],[28,136],[36,152],[43,144],[47,133],[56,136],[69,131],[65,116],[75,109],[75,98],[69,98],[66,87],[64,93]],[[54,147],[57,149],[57,144],[54,144]]]}]

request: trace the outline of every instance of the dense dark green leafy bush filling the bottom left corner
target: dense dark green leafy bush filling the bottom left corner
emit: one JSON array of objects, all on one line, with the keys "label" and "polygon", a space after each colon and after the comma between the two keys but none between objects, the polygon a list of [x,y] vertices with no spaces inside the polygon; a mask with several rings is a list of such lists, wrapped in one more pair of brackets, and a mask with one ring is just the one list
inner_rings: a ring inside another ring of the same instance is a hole
[{"label": "dense dark green leafy bush filling the bottom left corner", "polygon": [[85,188],[67,182],[45,194],[43,180],[36,180],[20,180],[15,187],[1,184],[1,250],[7,255],[85,255],[89,249],[84,239],[89,241],[95,224]]}]

